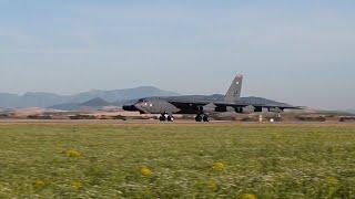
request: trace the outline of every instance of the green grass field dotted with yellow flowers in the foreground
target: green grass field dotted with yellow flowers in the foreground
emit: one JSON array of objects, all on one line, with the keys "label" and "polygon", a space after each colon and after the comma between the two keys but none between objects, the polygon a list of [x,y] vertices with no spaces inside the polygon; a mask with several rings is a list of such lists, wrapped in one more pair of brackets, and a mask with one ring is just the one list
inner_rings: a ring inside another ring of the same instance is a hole
[{"label": "green grass field dotted with yellow flowers in the foreground", "polygon": [[1,124],[0,198],[355,198],[355,125]]}]

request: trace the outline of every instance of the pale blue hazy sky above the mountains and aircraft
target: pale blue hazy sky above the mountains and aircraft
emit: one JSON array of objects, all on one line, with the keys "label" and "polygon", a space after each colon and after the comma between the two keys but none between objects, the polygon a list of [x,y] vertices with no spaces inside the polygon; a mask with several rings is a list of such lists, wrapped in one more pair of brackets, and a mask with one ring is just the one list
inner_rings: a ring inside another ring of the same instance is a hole
[{"label": "pale blue hazy sky above the mountains and aircraft", "polygon": [[0,93],[152,85],[355,108],[354,0],[0,0]]}]

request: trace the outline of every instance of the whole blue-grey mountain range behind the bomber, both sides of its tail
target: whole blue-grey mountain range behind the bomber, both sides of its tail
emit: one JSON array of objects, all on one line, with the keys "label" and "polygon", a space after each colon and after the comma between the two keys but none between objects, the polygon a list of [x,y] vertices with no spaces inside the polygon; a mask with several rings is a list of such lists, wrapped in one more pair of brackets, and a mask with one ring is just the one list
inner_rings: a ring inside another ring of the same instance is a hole
[{"label": "whole blue-grey mountain range behind the bomber, both sides of its tail", "polygon": [[[180,100],[193,98],[195,101],[223,101],[224,96],[215,95],[179,95],[174,92],[163,91],[153,86],[141,86],[128,90],[100,91],[79,93],[75,95],[58,95],[53,93],[27,93],[14,95],[0,93],[0,107],[24,108],[42,107],[63,111],[98,109],[105,106],[122,106],[132,104],[136,100],[150,96],[175,96]],[[262,97],[242,97],[242,102],[253,104],[286,105]]]}]

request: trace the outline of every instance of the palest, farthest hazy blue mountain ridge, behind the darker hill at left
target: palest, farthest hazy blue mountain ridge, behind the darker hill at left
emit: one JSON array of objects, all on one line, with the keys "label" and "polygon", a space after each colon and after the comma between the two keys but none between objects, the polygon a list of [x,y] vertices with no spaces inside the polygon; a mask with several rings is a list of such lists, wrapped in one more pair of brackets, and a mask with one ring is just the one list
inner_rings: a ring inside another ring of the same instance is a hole
[{"label": "palest, farthest hazy blue mountain ridge, behind the darker hill at left", "polygon": [[102,98],[113,104],[120,104],[133,98],[142,98],[148,96],[172,96],[178,93],[163,91],[153,86],[141,86],[128,90],[100,91],[79,93],[74,95],[58,95],[53,93],[26,93],[24,95],[16,95],[9,93],[0,93],[0,107],[6,108],[23,108],[23,107],[50,107],[58,104],[81,104],[94,98]]}]

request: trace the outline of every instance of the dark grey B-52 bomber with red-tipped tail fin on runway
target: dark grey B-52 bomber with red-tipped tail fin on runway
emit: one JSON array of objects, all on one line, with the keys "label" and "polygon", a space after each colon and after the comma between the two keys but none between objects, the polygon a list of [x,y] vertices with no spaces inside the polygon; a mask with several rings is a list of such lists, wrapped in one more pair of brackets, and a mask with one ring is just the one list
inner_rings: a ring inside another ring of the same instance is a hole
[{"label": "dark grey B-52 bomber with red-tipped tail fin on runway", "polygon": [[124,111],[140,112],[141,114],[160,114],[161,122],[173,122],[173,114],[194,114],[196,122],[210,122],[214,113],[233,112],[251,114],[257,112],[281,113],[284,109],[302,109],[298,106],[253,104],[241,101],[243,75],[236,75],[224,100],[195,100],[193,97],[146,97],[139,100],[133,105],[123,106]]}]

